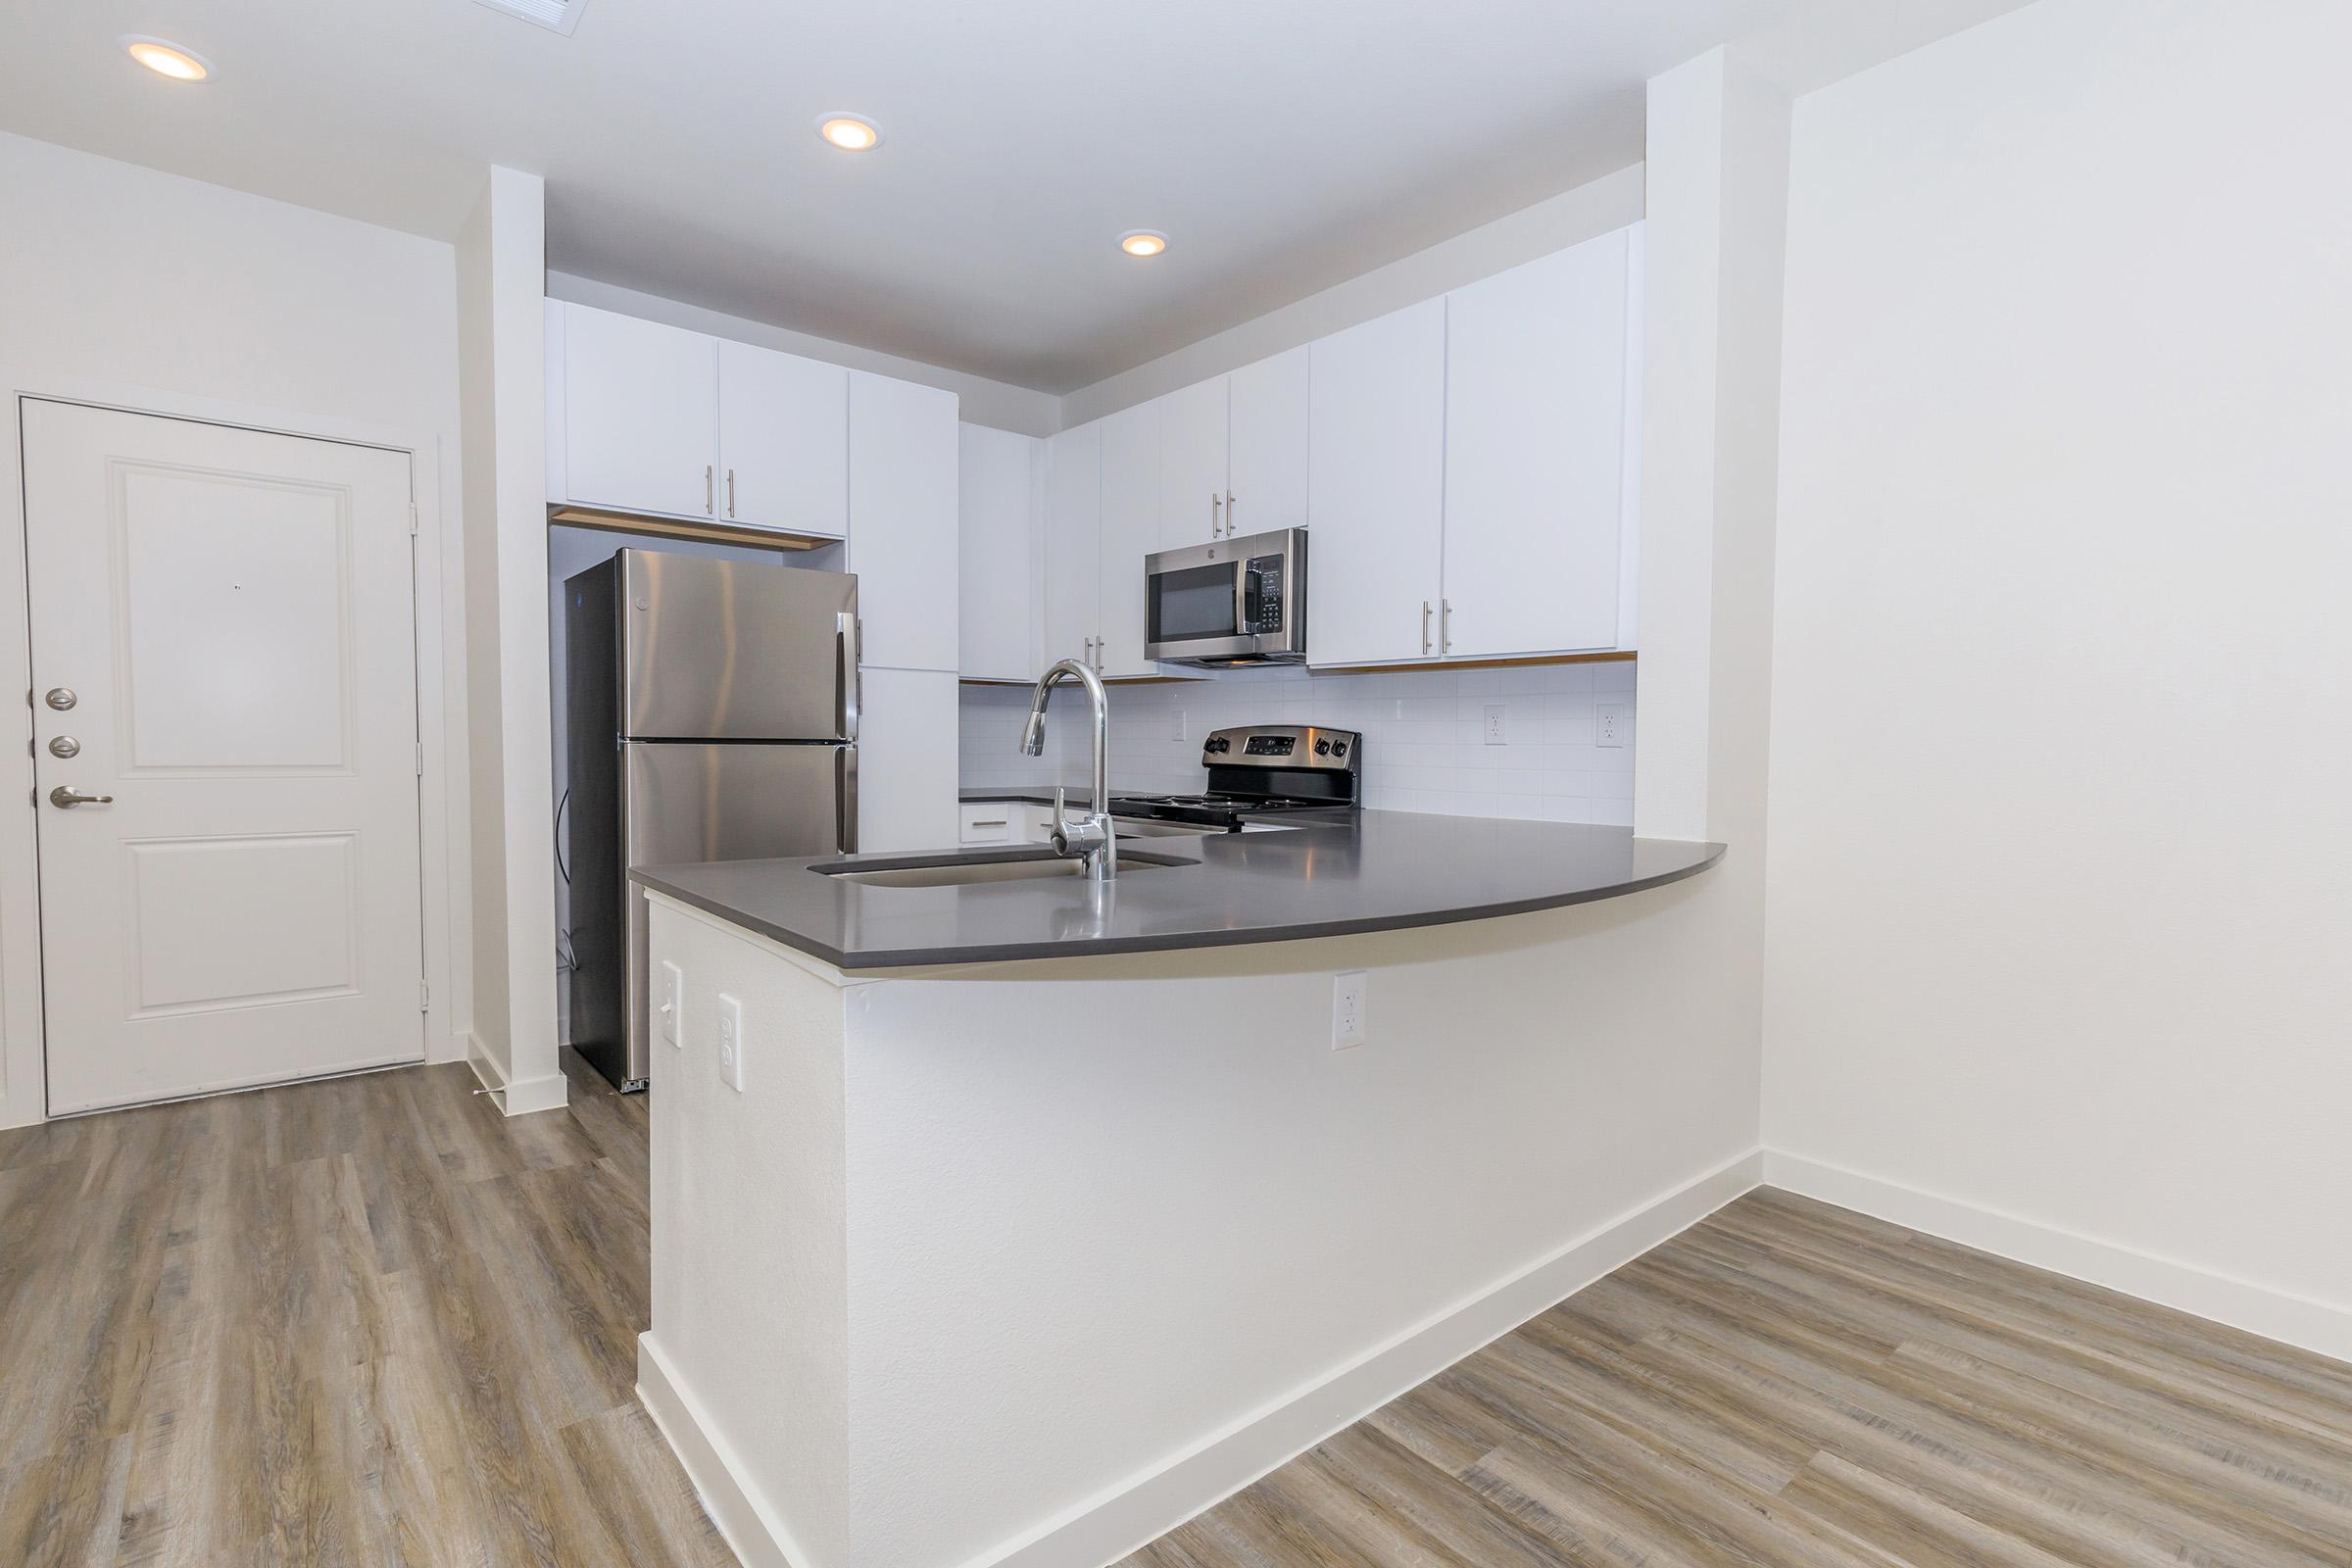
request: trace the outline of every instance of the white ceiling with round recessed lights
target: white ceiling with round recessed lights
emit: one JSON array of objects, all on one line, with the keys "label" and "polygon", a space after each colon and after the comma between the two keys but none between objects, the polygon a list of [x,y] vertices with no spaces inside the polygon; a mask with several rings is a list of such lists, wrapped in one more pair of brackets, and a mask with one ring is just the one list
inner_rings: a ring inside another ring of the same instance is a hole
[{"label": "white ceiling with round recessed lights", "polygon": [[[0,129],[1063,393],[1642,155],[1785,0],[12,0]],[[120,33],[207,54],[179,87]],[[866,155],[814,122],[882,122]],[[1127,228],[1169,254],[1129,261]]]}]

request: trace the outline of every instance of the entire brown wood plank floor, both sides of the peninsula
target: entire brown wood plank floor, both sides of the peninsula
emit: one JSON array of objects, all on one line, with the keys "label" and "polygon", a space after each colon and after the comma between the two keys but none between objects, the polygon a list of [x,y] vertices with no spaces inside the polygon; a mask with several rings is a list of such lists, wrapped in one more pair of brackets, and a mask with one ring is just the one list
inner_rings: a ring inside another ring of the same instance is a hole
[{"label": "entire brown wood plank floor, both sides of the peninsula", "polygon": [[[416,1067],[0,1133],[0,1563],[722,1568],[644,1103]],[[1124,1568],[2352,1568],[2352,1368],[1757,1192]]]}]

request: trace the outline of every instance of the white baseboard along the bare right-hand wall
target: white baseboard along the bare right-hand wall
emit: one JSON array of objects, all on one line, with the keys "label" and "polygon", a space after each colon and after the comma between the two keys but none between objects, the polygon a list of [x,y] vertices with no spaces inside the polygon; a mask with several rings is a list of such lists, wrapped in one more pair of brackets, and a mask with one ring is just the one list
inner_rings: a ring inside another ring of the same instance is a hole
[{"label": "white baseboard along the bare right-hand wall", "polygon": [[2157,1302],[2265,1340],[2352,1361],[2352,1312],[2307,1295],[2218,1274],[2178,1258],[2159,1258],[2114,1241],[2098,1241],[2056,1225],[1919,1192],[1860,1171],[1802,1154],[1764,1154],[1764,1182],[1799,1197],[1853,1208],[1889,1225],[1924,1229],[2053,1274]]}]

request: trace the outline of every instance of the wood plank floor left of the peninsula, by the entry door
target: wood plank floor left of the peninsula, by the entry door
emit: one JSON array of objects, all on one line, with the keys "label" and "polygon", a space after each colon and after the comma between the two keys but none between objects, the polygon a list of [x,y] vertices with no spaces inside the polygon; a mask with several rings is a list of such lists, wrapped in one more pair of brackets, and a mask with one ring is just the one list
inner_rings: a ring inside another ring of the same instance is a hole
[{"label": "wood plank floor left of the peninsula, by the entry door", "polygon": [[0,1563],[731,1566],[633,1394],[644,1103],[567,1070],[0,1133]]}]

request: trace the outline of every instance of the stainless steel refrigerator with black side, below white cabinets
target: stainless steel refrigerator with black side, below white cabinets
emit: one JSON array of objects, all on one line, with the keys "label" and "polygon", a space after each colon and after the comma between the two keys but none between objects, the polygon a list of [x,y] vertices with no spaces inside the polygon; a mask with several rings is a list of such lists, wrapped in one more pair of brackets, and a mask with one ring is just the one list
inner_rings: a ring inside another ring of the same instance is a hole
[{"label": "stainless steel refrigerator with black side, below white cabinets", "polygon": [[858,581],[621,550],[564,581],[572,1044],[644,1088],[630,865],[858,844]]}]

